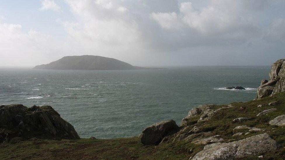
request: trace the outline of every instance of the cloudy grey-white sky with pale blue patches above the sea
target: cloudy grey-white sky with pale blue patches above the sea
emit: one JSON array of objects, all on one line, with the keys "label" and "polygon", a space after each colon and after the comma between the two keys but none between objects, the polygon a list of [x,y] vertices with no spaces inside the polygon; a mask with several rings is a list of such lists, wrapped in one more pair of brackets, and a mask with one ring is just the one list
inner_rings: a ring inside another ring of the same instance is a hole
[{"label": "cloudy grey-white sky with pale blue patches above the sea", "polygon": [[99,55],[135,66],[271,65],[284,0],[0,0],[0,66]]}]

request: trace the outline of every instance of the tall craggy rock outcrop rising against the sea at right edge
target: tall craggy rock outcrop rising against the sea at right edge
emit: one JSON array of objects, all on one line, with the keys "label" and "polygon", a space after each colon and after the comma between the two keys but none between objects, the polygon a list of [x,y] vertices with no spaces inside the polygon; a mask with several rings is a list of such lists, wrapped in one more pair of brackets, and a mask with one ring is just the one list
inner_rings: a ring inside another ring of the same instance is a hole
[{"label": "tall craggy rock outcrop rising against the sea at right edge", "polygon": [[272,64],[269,81],[262,80],[257,89],[257,98],[261,99],[285,91],[285,59]]}]

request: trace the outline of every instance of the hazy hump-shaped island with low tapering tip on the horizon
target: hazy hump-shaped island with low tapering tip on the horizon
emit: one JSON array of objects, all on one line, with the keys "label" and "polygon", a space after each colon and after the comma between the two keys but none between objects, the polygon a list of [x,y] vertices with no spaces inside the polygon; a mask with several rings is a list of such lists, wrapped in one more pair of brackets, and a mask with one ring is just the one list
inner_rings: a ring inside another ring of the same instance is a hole
[{"label": "hazy hump-shaped island with low tapering tip on the horizon", "polygon": [[165,69],[155,67],[138,67],[126,62],[102,56],[82,55],[66,56],[49,64],[35,66],[34,69],[63,70],[133,70],[133,69]]}]

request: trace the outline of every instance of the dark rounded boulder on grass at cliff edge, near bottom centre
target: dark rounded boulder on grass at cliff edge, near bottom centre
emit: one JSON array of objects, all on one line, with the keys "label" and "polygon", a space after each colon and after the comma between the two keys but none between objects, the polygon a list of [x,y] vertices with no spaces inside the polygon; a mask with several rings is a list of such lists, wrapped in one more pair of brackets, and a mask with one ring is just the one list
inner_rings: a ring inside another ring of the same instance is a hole
[{"label": "dark rounded boulder on grass at cliff edge, near bottom centre", "polygon": [[179,127],[173,120],[161,121],[145,128],[140,134],[140,142],[144,145],[156,145],[168,135],[176,133]]}]

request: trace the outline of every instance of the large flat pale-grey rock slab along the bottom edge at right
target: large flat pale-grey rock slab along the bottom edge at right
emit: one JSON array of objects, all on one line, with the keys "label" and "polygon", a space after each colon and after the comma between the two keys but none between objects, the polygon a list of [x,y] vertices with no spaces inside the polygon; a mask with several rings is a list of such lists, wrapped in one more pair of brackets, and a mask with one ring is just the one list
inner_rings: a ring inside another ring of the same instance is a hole
[{"label": "large flat pale-grey rock slab along the bottom edge at right", "polygon": [[277,143],[266,133],[230,143],[206,145],[192,160],[237,159],[277,150]]}]

